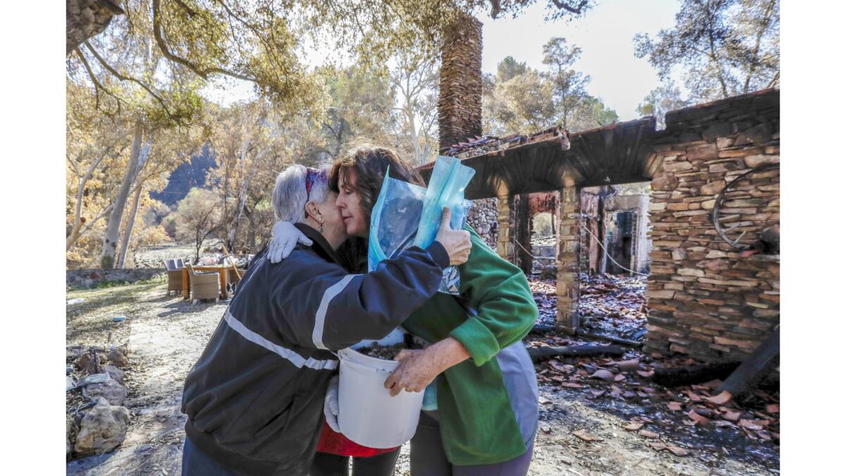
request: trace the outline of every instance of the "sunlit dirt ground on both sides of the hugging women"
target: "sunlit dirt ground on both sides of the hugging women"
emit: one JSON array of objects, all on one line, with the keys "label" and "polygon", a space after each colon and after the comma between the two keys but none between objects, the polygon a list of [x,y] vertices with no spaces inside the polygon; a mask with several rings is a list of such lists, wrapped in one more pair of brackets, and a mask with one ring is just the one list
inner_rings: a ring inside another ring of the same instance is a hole
[{"label": "sunlit dirt ground on both sides of the hugging women", "polygon": [[[117,450],[67,464],[68,474],[174,474],[181,468],[185,416],[179,412],[185,375],[220,322],[225,302],[192,306],[165,296],[166,285],[127,285],[69,291],[84,298],[67,310],[67,345],[129,344],[126,385],[130,423]],[[111,318],[125,315],[121,324]],[[68,363],[72,361],[69,351]],[[623,429],[649,409],[618,400],[590,400],[585,392],[542,384],[540,429],[530,474],[778,473],[778,447],[750,442],[719,428],[655,425],[656,438]],[[580,431],[581,430],[581,431]],[[654,451],[656,440],[687,448],[677,457]],[[397,474],[409,474],[408,445]]]}]

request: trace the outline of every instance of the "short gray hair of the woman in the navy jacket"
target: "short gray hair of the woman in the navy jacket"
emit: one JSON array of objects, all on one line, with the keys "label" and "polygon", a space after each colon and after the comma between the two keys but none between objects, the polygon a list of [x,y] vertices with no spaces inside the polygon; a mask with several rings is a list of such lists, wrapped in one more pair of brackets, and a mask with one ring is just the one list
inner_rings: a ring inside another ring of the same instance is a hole
[{"label": "short gray hair of the woman in the navy jacket", "polygon": [[277,175],[276,185],[273,186],[273,212],[277,220],[305,222],[306,202],[326,202],[329,194],[327,168],[323,167],[318,174],[312,174],[310,193],[305,191],[307,176],[308,169],[299,163],[294,163]]}]

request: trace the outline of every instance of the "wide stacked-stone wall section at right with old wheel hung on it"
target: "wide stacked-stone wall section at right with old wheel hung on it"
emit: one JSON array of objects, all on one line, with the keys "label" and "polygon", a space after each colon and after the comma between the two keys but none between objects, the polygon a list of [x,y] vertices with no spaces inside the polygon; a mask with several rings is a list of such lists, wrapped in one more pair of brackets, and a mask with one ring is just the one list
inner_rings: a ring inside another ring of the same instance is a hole
[{"label": "wide stacked-stone wall section at right with old wheel hung on it", "polygon": [[[707,361],[742,360],[779,322],[779,257],[740,253],[711,224],[717,194],[739,174],[778,163],[778,91],[667,113],[653,142],[651,274],[645,347]],[[779,170],[727,195],[726,224],[748,240],[779,220]]]}]

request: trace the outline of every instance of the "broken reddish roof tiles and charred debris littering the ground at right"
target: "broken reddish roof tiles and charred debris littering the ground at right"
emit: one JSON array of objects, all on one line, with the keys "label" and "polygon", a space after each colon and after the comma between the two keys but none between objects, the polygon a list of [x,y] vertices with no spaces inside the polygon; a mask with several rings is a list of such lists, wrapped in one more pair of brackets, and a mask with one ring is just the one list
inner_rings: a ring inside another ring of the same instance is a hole
[{"label": "broken reddish roof tiles and charred debris littering the ground at right", "polygon": [[[544,348],[556,347],[603,347],[596,342],[559,335],[529,335],[524,342],[530,353],[542,353]],[[686,455],[690,449],[719,451],[717,447],[697,447],[695,439],[690,440],[686,449],[670,447],[661,441],[662,434],[695,435],[699,429],[719,429],[741,440],[778,443],[780,396],[777,388],[756,389],[747,401],[739,403],[717,390],[723,383],[721,379],[674,388],[667,388],[653,379],[656,372],[697,365],[704,363],[689,357],[663,357],[657,352],[626,350],[618,357],[552,357],[536,363],[536,370],[541,384],[578,392],[597,407],[616,412],[624,409],[629,424],[623,428],[642,436],[644,444],[655,451],[671,451],[678,456]],[[541,399],[541,405],[544,403]]]}]

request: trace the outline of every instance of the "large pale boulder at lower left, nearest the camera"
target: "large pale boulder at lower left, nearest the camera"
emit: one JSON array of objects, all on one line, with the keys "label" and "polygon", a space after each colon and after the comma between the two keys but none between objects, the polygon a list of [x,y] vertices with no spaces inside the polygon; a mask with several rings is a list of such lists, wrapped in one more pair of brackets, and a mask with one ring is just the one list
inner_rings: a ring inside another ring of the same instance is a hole
[{"label": "large pale boulder at lower left, nearest the camera", "polygon": [[99,397],[95,407],[85,413],[76,435],[74,451],[80,455],[102,454],[120,445],[126,437],[129,410],[109,405]]}]

